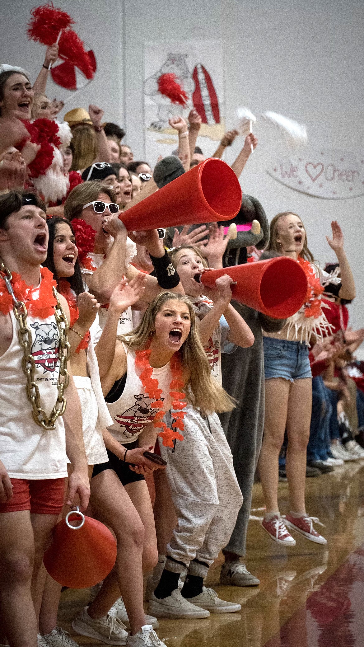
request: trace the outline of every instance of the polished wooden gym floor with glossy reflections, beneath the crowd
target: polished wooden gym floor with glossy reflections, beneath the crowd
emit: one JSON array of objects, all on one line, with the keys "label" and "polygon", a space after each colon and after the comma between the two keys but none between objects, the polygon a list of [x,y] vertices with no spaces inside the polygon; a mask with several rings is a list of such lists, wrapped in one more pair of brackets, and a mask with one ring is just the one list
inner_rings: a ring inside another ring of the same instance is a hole
[{"label": "polished wooden gym floor with glossy reflections, beneath the crowd", "polygon": [[[286,483],[279,484],[281,513],[288,510]],[[221,557],[208,576],[219,597],[240,602],[240,613],[206,620],[160,620],[167,647],[362,647],[364,645],[364,462],[346,463],[306,481],[307,510],[325,523],[327,546],[295,533],[294,548],[270,540],[259,520],[262,490],[254,486],[247,567],[259,587],[219,585]],[[319,529],[320,527],[318,527]],[[80,645],[101,644],[76,635],[74,615],[89,591],[65,591],[59,625]]]}]

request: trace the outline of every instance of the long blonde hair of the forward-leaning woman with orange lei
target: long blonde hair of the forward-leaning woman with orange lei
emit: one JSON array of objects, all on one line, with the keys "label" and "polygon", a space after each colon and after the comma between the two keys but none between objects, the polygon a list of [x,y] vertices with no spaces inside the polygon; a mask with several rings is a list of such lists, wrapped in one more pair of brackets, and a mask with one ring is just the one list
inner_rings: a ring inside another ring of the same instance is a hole
[{"label": "long blonde hair of the forward-leaning woman with orange lei", "polygon": [[195,311],[188,296],[175,294],[175,292],[160,292],[149,303],[138,327],[132,333],[120,336],[119,339],[133,351],[147,348],[151,332],[155,327],[156,315],[164,303],[171,300],[186,303],[191,318],[191,330],[179,351],[181,364],[189,371],[189,378],[183,389],[186,393],[186,402],[204,413],[231,411],[235,407],[233,399],[211,376],[209,360],[200,342]]}]

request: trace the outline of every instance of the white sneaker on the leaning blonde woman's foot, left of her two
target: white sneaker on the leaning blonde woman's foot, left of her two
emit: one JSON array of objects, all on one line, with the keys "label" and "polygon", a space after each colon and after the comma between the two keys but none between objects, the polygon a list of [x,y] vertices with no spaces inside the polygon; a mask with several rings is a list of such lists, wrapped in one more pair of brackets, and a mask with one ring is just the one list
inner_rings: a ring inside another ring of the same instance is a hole
[{"label": "white sneaker on the leaning blonde woman's foot, left of her two", "polygon": [[[85,607],[72,622],[72,629],[82,636],[96,638],[98,641],[105,642],[108,645],[125,645],[127,631],[125,625],[116,617],[116,610],[112,607],[102,618],[94,620],[87,613]],[[112,615],[114,614],[114,615]]]}]

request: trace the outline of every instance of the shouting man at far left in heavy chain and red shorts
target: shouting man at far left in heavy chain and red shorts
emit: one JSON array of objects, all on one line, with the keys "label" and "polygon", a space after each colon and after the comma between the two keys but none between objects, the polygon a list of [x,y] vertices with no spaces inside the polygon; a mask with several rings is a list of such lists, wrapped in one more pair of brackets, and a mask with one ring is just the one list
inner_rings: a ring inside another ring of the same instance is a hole
[{"label": "shouting man at far left in heavy chain and red shorts", "polygon": [[77,493],[85,510],[90,494],[69,364],[63,394],[67,371],[60,357],[67,357],[69,308],[41,267],[47,245],[43,201],[25,191],[1,196],[0,640],[6,636],[12,647],[37,645],[35,584],[63,507],[67,456],[67,505]]}]

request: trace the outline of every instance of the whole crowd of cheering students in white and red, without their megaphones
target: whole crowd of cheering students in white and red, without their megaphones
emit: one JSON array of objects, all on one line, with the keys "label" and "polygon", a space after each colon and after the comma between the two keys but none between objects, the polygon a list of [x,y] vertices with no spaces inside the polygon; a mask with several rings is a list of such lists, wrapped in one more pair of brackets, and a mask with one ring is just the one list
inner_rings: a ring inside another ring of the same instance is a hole
[{"label": "whole crowd of cheering students in white and red, without their megaphones", "polygon": [[[364,457],[354,358],[364,330],[348,327],[356,292],[336,222],[325,269],[301,217],[268,225],[252,196],[229,223],[128,232],[122,212],[204,160],[201,118],[170,120],[178,149],[152,170],[96,105],[56,119],[62,104],[45,91],[57,56],[47,49],[34,85],[0,66],[0,642],[76,644],[58,626],[61,585],[42,560],[57,521],[80,505],[112,529],[117,557],[74,631],[158,646],[160,617],[241,609],[204,586],[220,551],[221,584],[259,585],[244,560],[254,479],[272,540],[327,543],[305,479]],[[256,146],[249,134],[237,177]],[[231,302],[228,274],[215,289],[198,281],[276,256],[297,261],[309,286],[286,320]]]}]

